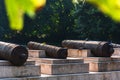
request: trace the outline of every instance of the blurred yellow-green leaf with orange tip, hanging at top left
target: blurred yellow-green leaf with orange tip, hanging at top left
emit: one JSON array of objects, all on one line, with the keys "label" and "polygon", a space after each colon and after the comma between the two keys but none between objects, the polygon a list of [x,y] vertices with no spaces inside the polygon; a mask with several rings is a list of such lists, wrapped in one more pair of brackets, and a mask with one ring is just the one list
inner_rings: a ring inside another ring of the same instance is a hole
[{"label": "blurred yellow-green leaf with orange tip, hanging at top left", "polygon": [[34,18],[36,9],[43,7],[45,2],[46,0],[5,0],[11,29],[22,30],[24,14]]}]

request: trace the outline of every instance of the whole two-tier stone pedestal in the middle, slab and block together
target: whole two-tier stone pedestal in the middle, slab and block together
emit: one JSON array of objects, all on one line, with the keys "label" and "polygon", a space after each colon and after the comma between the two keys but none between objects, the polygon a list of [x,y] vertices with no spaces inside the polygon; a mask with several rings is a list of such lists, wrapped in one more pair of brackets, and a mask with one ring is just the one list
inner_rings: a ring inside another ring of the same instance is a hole
[{"label": "whole two-tier stone pedestal in the middle, slab and block together", "polygon": [[82,59],[41,59],[41,73],[50,75],[88,73],[89,64]]}]

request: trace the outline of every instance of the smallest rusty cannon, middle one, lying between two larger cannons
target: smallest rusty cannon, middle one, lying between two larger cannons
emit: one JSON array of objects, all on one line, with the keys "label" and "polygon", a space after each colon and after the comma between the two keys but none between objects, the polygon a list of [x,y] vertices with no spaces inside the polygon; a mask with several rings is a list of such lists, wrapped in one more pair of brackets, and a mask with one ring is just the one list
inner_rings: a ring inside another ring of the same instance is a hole
[{"label": "smallest rusty cannon, middle one, lying between two larger cannons", "polygon": [[68,54],[66,48],[56,47],[32,41],[28,42],[27,46],[29,49],[45,50],[46,56],[49,58],[65,59]]}]

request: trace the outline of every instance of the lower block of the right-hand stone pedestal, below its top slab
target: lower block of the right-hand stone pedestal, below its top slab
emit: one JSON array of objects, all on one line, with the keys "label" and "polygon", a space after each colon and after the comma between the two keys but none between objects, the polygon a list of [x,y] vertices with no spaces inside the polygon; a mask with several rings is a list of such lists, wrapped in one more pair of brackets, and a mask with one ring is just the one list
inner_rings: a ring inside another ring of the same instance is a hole
[{"label": "lower block of the right-hand stone pedestal, below its top slab", "polygon": [[89,63],[89,71],[92,72],[120,71],[120,61],[91,62]]}]

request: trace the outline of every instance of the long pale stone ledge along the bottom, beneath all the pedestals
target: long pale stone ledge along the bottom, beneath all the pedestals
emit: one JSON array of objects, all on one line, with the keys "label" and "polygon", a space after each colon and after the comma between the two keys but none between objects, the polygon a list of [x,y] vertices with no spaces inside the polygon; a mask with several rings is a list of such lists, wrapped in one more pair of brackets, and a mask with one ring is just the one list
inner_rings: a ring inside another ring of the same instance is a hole
[{"label": "long pale stone ledge along the bottom, beneath all the pedestals", "polygon": [[0,80],[120,80],[120,71],[67,75],[41,75],[40,77],[4,78]]}]

